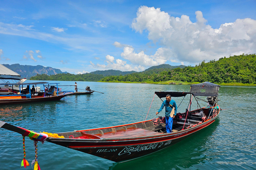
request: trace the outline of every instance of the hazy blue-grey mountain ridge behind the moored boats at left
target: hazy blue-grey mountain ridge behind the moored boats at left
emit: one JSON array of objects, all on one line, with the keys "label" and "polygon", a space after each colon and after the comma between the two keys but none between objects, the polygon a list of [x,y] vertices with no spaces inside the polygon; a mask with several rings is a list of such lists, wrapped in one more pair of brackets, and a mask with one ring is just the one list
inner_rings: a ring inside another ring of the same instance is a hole
[{"label": "hazy blue-grey mountain ridge behind the moored boats at left", "polygon": [[37,74],[55,75],[60,73],[67,73],[66,71],[62,72],[60,69],[56,69],[52,67],[44,67],[42,65],[37,65],[37,66],[20,65],[20,64],[11,64],[11,65],[2,64],[2,65],[20,74],[21,78],[27,78],[27,79]]}]

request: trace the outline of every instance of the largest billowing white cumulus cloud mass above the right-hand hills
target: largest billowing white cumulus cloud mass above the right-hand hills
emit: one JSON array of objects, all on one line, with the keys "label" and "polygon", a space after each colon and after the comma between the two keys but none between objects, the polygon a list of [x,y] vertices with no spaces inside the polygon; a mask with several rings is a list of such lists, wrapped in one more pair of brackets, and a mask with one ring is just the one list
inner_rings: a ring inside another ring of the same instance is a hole
[{"label": "largest billowing white cumulus cloud mass above the right-hand hills", "polygon": [[[160,8],[141,6],[131,26],[139,33],[147,30],[148,39],[160,42],[172,54],[171,59],[179,62],[198,63],[204,59],[209,61],[229,54],[255,53],[256,20],[237,19],[233,23],[224,23],[220,28],[213,29],[206,25],[207,20],[201,11],[196,11],[195,15],[196,22],[192,23],[189,16],[175,18]],[[127,55],[129,51],[133,53],[131,48],[127,48],[123,54],[125,58],[132,57]],[[141,59],[143,55],[143,52],[137,54]],[[140,60],[138,58],[137,62]],[[168,59],[170,56],[162,56],[164,58]],[[144,64],[154,64],[156,61],[146,56],[143,60]]]}]

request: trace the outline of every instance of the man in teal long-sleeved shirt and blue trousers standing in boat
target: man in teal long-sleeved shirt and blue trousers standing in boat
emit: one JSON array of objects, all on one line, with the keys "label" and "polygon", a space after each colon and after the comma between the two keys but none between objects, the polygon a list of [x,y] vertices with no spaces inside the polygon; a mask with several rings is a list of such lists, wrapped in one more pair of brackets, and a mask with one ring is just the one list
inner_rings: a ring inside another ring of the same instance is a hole
[{"label": "man in teal long-sleeved shirt and blue trousers standing in boat", "polygon": [[[173,118],[175,118],[175,115],[177,113],[177,106],[176,102],[171,99],[171,95],[166,95],[166,100],[163,101],[161,108],[159,109],[158,112],[156,112],[156,115],[158,115],[159,112],[163,110],[165,107],[165,127],[166,127],[166,132],[171,133],[172,132],[172,122]],[[174,115],[172,114],[174,110]]]}]

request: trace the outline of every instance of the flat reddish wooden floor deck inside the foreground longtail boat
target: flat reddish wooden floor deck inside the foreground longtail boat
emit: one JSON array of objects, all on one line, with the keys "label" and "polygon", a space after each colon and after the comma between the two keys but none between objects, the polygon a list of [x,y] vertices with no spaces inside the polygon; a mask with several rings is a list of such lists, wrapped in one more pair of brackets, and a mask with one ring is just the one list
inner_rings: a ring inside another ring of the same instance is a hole
[{"label": "flat reddish wooden floor deck inside the foreground longtail boat", "polygon": [[150,136],[150,135],[156,135],[156,134],[159,134],[159,132],[145,130],[142,128],[129,128],[127,130],[104,133],[103,135],[99,135],[99,136],[104,138],[125,138],[125,137]]}]

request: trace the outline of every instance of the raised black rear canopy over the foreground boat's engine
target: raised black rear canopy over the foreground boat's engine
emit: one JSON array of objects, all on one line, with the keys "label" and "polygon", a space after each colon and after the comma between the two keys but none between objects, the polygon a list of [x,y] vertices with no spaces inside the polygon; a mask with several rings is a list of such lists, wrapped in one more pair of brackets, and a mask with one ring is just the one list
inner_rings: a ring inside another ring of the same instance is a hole
[{"label": "raised black rear canopy over the foreground boat's engine", "polygon": [[192,93],[194,96],[218,96],[220,85],[213,84],[208,81],[199,83],[199,84],[193,84],[190,86],[190,93]]}]

